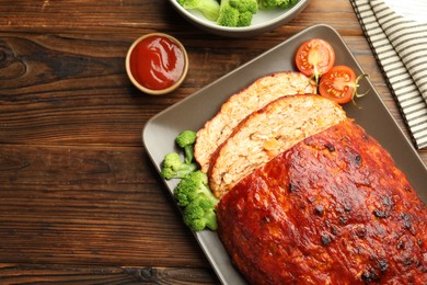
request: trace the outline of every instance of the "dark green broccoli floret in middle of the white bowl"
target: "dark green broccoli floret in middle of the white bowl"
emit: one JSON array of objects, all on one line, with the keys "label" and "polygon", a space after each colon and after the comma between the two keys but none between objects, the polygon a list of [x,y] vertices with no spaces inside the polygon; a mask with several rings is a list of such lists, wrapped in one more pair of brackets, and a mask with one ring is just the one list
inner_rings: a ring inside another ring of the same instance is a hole
[{"label": "dark green broccoli floret in middle of the white bowl", "polygon": [[221,0],[217,23],[222,26],[249,26],[257,11],[257,0]]}]

